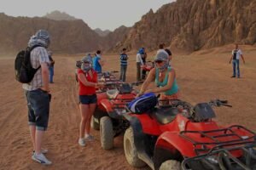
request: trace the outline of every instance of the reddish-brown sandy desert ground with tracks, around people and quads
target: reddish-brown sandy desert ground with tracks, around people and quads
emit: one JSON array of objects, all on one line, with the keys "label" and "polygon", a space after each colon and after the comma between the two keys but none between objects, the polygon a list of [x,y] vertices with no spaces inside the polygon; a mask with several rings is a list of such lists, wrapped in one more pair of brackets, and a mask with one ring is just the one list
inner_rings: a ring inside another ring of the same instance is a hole
[{"label": "reddish-brown sandy desert ground with tracks, around people and quads", "polygon": [[[232,74],[232,45],[190,55],[174,55],[172,65],[182,99],[192,104],[210,99],[228,99],[233,108],[217,108],[222,125],[241,124],[256,131],[256,48],[241,47],[246,65],[241,64],[241,78]],[[152,54],[149,54],[149,58]],[[123,137],[114,140],[113,150],[102,150],[99,132],[96,140],[82,148],[78,144],[78,89],[74,80],[75,60],[82,55],[54,55],[55,83],[50,86],[53,99],[49,130],[44,136],[47,157],[53,165],[44,167],[32,161],[32,143],[27,126],[24,92],[15,82],[14,57],[0,57],[0,169],[134,169],[125,160]],[[104,70],[119,70],[117,55],[103,55],[108,61]],[[117,76],[119,76],[117,74]],[[130,56],[127,79],[136,80],[135,54]],[[144,167],[143,169],[149,169]]]}]

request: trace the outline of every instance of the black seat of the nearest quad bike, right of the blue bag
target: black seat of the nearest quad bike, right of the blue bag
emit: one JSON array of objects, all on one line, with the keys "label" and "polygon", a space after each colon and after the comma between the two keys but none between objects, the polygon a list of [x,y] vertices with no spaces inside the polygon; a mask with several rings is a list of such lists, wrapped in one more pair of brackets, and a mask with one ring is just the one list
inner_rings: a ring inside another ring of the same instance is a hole
[{"label": "black seat of the nearest quad bike, right of the blue bag", "polygon": [[161,107],[157,108],[153,115],[156,118],[157,122],[160,124],[167,124],[172,122],[178,114],[177,108],[173,107]]}]

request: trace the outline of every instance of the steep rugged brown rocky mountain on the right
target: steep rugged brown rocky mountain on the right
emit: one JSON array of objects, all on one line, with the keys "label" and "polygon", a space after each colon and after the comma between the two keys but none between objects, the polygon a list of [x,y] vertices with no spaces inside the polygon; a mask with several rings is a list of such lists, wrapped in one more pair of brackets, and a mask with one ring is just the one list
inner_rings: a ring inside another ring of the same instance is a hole
[{"label": "steep rugged brown rocky mountain on the right", "polygon": [[177,0],[150,10],[114,50],[153,50],[164,42],[173,49],[194,51],[227,43],[256,42],[255,0]]}]

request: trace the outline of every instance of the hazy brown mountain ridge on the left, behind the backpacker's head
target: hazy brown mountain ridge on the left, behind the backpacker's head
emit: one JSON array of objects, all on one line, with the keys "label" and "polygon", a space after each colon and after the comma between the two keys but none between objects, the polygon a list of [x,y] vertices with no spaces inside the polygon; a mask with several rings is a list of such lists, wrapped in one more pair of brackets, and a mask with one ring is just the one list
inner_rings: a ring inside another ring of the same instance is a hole
[{"label": "hazy brown mountain ridge on the left, behind the backpacker's head", "polygon": [[11,17],[0,14],[0,54],[26,48],[29,38],[39,29],[51,35],[50,48],[60,53],[84,53],[104,48],[102,37],[83,20],[49,20],[45,18]]}]

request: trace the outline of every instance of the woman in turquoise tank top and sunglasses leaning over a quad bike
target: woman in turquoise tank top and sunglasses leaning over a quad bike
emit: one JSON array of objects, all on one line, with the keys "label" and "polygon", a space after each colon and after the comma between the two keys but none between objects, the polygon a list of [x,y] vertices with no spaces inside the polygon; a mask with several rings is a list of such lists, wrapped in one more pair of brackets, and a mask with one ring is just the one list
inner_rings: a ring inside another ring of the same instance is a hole
[{"label": "woman in turquoise tank top and sunglasses leaning over a quad bike", "polygon": [[[154,59],[156,67],[152,69],[138,96],[153,92],[160,93],[160,99],[178,99],[179,89],[176,81],[176,73],[169,66],[169,56],[165,51],[160,51]],[[155,82],[156,87],[148,89],[150,82]]]}]

